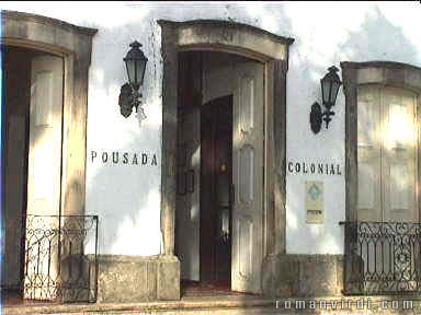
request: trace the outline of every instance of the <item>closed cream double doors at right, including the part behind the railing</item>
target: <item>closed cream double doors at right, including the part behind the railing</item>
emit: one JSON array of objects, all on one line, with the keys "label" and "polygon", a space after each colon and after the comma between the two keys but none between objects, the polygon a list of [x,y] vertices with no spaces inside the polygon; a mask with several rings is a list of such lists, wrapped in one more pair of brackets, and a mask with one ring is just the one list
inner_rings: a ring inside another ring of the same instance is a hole
[{"label": "closed cream double doors at right, including the part behind the railing", "polygon": [[419,268],[419,245],[410,236],[416,230],[399,225],[419,222],[416,104],[416,96],[400,89],[359,90],[357,220],[368,222],[359,250],[368,290],[395,290],[397,279],[409,280]]}]

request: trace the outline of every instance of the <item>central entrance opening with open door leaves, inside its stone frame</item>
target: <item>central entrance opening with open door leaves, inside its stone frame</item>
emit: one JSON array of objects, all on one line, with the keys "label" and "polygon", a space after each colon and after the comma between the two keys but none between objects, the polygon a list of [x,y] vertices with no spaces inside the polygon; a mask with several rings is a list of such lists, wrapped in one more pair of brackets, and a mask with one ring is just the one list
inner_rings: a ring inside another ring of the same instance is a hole
[{"label": "central entrance opening with open door leaves, inside its stone frame", "polygon": [[179,52],[175,252],[195,287],[261,290],[263,75],[241,56]]}]

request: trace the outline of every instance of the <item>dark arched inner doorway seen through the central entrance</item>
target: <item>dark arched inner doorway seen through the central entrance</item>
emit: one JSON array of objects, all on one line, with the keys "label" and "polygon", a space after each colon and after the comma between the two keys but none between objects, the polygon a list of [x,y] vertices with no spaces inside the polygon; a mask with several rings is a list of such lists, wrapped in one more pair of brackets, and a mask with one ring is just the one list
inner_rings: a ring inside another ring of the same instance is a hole
[{"label": "dark arched inner doorway seen through the central entrance", "polygon": [[232,95],[201,108],[201,281],[231,285]]}]

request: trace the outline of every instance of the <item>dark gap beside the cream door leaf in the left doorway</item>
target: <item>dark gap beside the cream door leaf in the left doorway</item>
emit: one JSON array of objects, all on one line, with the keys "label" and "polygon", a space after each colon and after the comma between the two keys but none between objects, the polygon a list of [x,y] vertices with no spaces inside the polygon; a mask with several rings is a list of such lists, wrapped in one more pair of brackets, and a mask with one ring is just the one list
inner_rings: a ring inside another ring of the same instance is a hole
[{"label": "dark gap beside the cream door leaf in the left doorway", "polygon": [[23,223],[26,209],[27,142],[31,97],[30,49],[5,46],[3,51],[5,92],[5,226],[2,287],[18,288],[23,272]]}]

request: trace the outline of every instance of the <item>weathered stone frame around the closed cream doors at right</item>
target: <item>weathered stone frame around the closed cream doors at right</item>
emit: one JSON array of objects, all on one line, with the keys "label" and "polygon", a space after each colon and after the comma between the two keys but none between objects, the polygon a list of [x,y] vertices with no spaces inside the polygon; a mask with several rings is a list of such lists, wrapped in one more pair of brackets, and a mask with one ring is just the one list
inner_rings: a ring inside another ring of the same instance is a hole
[{"label": "weathered stone frame around the closed cream doors at right", "polygon": [[[345,218],[356,221],[357,202],[357,91],[362,85],[395,86],[417,94],[418,156],[421,156],[421,68],[392,61],[341,62],[343,93],[345,94]],[[418,159],[418,185],[421,178],[421,159]],[[421,194],[418,194],[421,218]]]}]

